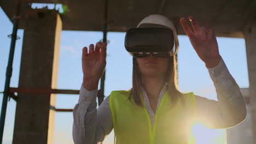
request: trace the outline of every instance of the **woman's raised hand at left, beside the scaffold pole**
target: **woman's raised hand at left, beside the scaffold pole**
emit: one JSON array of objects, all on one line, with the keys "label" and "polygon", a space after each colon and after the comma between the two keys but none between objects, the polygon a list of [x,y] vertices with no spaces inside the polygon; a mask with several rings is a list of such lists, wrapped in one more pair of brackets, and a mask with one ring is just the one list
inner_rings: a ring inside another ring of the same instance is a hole
[{"label": "woman's raised hand at left, beside the scaffold pole", "polygon": [[83,69],[83,86],[92,91],[98,88],[98,82],[104,73],[106,67],[107,43],[90,44],[88,48],[83,48],[82,69]]}]

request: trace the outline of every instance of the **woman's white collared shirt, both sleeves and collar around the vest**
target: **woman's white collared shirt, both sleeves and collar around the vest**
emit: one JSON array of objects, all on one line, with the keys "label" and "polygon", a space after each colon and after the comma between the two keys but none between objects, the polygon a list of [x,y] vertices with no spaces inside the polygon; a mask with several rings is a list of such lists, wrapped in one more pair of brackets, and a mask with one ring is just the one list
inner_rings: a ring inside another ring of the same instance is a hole
[{"label": "woman's white collared shirt, both sleeves and collar around the vest", "polygon": [[[208,72],[216,88],[218,101],[196,95],[197,119],[205,122],[210,128],[229,128],[244,121],[246,118],[245,100],[223,59],[216,67],[208,68]],[[159,94],[158,105],[165,91],[166,85]],[[104,99],[98,109],[96,98],[97,89],[88,91],[83,85],[81,86],[78,104],[73,110],[72,135],[75,144],[101,143],[113,129],[109,96]],[[155,113],[144,91],[143,99],[153,125]]]}]

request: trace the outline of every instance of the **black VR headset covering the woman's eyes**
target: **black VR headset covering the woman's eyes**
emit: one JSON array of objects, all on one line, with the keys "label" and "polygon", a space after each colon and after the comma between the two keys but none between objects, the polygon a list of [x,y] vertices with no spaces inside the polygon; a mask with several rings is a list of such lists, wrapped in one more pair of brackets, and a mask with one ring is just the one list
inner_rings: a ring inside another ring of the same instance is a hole
[{"label": "black VR headset covering the woman's eyes", "polygon": [[131,28],[125,35],[125,49],[133,57],[170,57],[174,55],[174,45],[175,38],[170,28]]}]

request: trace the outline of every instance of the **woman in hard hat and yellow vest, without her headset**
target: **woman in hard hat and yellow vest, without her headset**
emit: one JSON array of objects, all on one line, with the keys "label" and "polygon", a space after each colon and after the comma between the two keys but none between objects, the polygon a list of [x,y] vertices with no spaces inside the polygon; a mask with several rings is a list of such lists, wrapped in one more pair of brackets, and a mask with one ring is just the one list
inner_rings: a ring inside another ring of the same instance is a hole
[{"label": "woman in hard hat and yellow vest, without her headset", "polygon": [[[114,128],[117,143],[188,143],[193,122],[209,128],[229,128],[246,118],[246,105],[240,88],[219,55],[211,28],[189,17],[194,32],[184,18],[181,25],[197,55],[206,64],[216,87],[218,101],[177,88],[176,56],[133,57],[132,88],[112,91],[96,109],[98,81],[106,66],[107,44],[98,42],[83,48],[83,84],[73,111],[73,141],[101,143]],[[176,29],[167,17],[150,15],[144,23]]]}]

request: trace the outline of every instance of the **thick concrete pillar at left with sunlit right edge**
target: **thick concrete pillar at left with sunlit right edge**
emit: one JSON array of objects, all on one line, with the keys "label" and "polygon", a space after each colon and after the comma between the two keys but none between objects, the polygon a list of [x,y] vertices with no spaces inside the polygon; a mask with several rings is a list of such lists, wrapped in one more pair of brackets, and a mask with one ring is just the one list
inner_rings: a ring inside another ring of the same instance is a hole
[{"label": "thick concrete pillar at left with sunlit right edge", "polygon": [[[32,10],[25,20],[19,87],[57,87],[62,21],[56,10]],[[13,143],[53,143],[55,94],[19,93]]]}]

